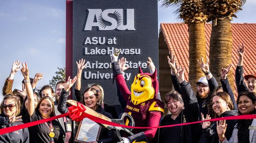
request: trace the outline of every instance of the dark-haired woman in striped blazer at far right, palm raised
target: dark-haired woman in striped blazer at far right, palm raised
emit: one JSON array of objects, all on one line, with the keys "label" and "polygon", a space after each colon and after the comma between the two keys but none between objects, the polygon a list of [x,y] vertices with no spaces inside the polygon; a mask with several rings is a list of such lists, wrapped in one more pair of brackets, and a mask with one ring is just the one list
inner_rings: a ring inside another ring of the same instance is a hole
[{"label": "dark-haired woman in striped blazer at far right, palm raised", "polygon": [[[237,105],[239,115],[256,114],[256,96],[253,93],[240,93],[237,98]],[[217,122],[220,143],[256,143],[256,119],[238,120],[229,141],[224,135],[226,129],[225,120]]]}]

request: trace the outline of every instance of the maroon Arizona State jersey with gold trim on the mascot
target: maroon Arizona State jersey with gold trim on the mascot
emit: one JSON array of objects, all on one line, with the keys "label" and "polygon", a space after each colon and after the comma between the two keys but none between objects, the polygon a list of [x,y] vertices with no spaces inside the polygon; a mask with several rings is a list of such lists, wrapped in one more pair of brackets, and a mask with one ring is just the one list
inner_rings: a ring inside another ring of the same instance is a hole
[{"label": "maroon Arizona State jersey with gold trim on the mascot", "polygon": [[[159,126],[160,118],[163,115],[164,103],[156,98],[134,105],[131,102],[131,91],[128,89],[122,74],[116,75],[116,81],[126,101],[125,112],[134,118],[135,126]],[[137,134],[144,132],[148,141],[154,137],[157,129],[133,129]]]}]

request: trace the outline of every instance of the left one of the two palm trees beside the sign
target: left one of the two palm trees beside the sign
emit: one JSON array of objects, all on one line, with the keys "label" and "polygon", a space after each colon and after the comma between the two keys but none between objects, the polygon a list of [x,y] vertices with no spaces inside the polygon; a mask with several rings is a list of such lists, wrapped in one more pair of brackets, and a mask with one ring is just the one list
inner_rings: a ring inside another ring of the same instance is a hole
[{"label": "left one of the two palm trees beside the sign", "polygon": [[[207,16],[204,14],[203,0],[162,0],[164,6],[180,6],[177,9],[180,18],[189,27],[189,82],[195,90],[195,83],[204,76],[197,59],[206,59],[206,40],[204,24]],[[182,48],[182,47],[181,47]]]}]

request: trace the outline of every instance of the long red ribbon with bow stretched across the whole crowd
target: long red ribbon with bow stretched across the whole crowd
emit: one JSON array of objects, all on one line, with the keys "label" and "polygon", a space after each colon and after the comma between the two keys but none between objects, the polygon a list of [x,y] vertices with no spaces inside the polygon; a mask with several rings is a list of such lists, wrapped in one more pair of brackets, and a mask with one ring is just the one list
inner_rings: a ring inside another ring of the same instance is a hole
[{"label": "long red ribbon with bow stretched across the whole crowd", "polygon": [[189,125],[189,124],[202,123],[202,122],[207,122],[207,121],[241,120],[241,119],[255,119],[256,118],[256,115],[238,115],[238,116],[215,118],[215,119],[211,119],[211,120],[196,121],[196,122],[190,122],[190,123],[179,123],[179,124],[166,125],[166,126],[138,127],[138,126],[125,126],[125,125],[121,125],[121,124],[118,124],[118,123],[113,123],[113,122],[110,122],[110,121],[106,121],[106,120],[103,120],[101,118],[95,117],[93,115],[84,113],[85,110],[86,109],[84,108],[84,106],[80,103],[80,104],[78,104],[77,107],[75,107],[75,106],[69,107],[69,111],[65,114],[61,114],[61,115],[58,115],[58,116],[50,117],[50,118],[39,120],[39,121],[24,123],[24,124],[21,124],[21,125],[11,126],[11,127],[8,127],[8,128],[0,129],[0,135],[6,134],[6,133],[9,133],[9,132],[13,132],[13,131],[16,131],[16,130],[19,130],[19,129],[28,128],[30,126],[35,126],[35,125],[38,125],[40,123],[49,122],[49,121],[52,121],[52,120],[55,120],[55,119],[58,119],[58,118],[62,118],[62,117],[68,116],[68,115],[70,115],[70,118],[72,118],[74,121],[81,121],[83,118],[86,117],[86,118],[89,118],[90,120],[95,121],[97,123],[107,124],[107,125],[110,125],[110,126],[120,126],[120,127],[124,127],[124,128],[134,128],[134,129],[166,128],[166,127],[173,127],[173,126],[184,126],[184,125]]}]

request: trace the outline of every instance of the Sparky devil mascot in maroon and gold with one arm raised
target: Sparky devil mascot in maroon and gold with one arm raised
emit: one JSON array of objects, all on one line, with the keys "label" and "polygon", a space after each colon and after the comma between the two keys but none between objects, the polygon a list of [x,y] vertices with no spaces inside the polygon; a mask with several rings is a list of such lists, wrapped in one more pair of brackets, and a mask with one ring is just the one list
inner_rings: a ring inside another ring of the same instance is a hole
[{"label": "Sparky devil mascot in maroon and gold with one arm raised", "polygon": [[[117,62],[120,50],[115,49],[111,55],[112,71],[119,89],[126,101],[125,112],[134,118],[135,126],[150,127],[159,126],[163,115],[164,103],[156,98],[158,92],[157,70],[153,74],[139,73],[128,89],[122,76],[119,62]],[[128,121],[127,121],[128,122]],[[128,123],[126,122],[126,125]],[[134,135],[124,138],[125,143],[152,143],[157,129],[133,129]]]}]

